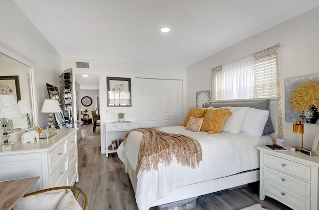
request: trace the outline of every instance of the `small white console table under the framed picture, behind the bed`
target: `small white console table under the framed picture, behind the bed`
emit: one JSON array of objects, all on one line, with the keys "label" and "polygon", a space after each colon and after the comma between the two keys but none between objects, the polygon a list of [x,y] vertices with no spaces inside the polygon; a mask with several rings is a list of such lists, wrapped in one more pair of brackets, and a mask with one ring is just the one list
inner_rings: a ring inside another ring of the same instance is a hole
[{"label": "small white console table under the framed picture, behind the bed", "polygon": [[[130,123],[105,123],[105,142],[106,149],[111,145],[112,140],[124,139],[125,135],[131,129],[137,128],[138,124],[136,122]],[[116,149],[107,149],[106,156],[109,156],[109,153],[117,152]]]}]

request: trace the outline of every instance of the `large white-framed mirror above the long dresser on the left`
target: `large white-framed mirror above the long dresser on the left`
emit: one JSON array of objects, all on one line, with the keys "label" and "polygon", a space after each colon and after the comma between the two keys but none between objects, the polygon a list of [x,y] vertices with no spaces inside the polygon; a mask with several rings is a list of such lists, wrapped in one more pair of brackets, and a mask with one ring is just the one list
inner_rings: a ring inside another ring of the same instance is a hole
[{"label": "large white-framed mirror above the long dresser on the left", "polygon": [[[24,110],[20,117],[8,119],[11,122],[11,125],[8,125],[10,126],[8,133],[14,133],[29,129],[30,124],[32,126],[33,123],[38,123],[37,113],[35,113],[37,108],[34,103],[35,92],[32,90],[33,84],[31,83],[32,69],[22,64],[26,58],[20,57],[14,50],[7,51],[7,48],[2,48],[2,46],[3,44],[0,43],[0,94],[13,95],[17,102],[22,101],[19,104],[23,104],[22,110]],[[6,52],[2,53],[1,50]],[[14,59],[7,56],[6,53]],[[21,63],[18,62],[19,58],[21,58]],[[30,119],[30,124],[27,118]]]}]

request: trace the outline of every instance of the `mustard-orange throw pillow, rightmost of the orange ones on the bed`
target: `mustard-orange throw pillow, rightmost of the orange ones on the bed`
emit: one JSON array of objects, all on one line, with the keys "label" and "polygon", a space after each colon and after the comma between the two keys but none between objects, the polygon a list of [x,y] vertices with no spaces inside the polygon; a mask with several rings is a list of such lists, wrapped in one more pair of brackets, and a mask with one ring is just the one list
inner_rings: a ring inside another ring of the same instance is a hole
[{"label": "mustard-orange throw pillow, rightmost of the orange ones on the bed", "polygon": [[201,131],[205,131],[208,134],[216,134],[223,128],[227,117],[232,116],[230,109],[208,109],[204,116],[204,122],[201,126]]}]

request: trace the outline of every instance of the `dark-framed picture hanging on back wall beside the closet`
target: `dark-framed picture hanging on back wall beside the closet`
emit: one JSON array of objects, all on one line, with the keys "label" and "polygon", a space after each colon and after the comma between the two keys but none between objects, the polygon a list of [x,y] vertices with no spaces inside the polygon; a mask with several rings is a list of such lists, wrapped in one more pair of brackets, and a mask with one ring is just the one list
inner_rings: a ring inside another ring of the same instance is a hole
[{"label": "dark-framed picture hanging on back wall beside the closet", "polygon": [[131,78],[106,77],[108,107],[130,107]]}]

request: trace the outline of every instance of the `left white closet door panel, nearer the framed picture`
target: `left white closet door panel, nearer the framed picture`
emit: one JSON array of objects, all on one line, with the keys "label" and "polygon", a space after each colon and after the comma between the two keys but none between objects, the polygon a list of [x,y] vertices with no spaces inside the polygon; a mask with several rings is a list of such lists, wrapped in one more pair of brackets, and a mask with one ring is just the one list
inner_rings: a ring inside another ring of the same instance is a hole
[{"label": "left white closet door panel, nearer the framed picture", "polygon": [[136,79],[138,83],[138,127],[161,127],[160,79]]}]

